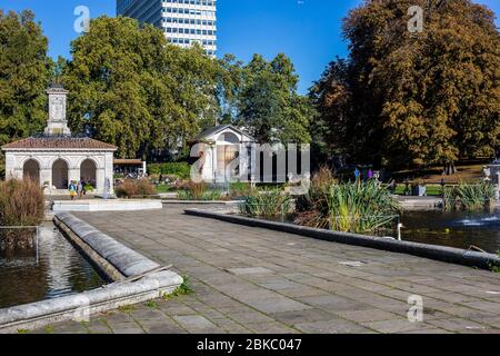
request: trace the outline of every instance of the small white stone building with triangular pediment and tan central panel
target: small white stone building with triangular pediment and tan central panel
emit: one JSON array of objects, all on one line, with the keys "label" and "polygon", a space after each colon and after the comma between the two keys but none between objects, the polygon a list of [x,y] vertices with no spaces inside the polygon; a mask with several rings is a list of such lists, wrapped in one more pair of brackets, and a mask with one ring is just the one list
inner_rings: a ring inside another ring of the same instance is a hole
[{"label": "small white stone building with triangular pediment and tan central panel", "polygon": [[228,165],[240,157],[240,175],[248,181],[254,180],[256,140],[231,125],[216,126],[196,137],[204,144],[201,158],[201,177],[206,182],[228,182]]}]

